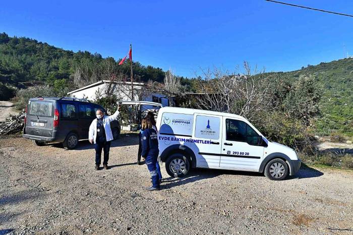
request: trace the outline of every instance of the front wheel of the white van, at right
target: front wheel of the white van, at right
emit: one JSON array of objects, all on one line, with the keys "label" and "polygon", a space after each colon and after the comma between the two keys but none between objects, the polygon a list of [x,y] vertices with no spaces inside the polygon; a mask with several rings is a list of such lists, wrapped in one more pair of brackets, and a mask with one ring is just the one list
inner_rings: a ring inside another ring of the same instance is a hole
[{"label": "front wheel of the white van, at right", "polygon": [[265,176],[271,181],[284,180],[288,175],[288,165],[280,158],[269,161],[265,167]]}]

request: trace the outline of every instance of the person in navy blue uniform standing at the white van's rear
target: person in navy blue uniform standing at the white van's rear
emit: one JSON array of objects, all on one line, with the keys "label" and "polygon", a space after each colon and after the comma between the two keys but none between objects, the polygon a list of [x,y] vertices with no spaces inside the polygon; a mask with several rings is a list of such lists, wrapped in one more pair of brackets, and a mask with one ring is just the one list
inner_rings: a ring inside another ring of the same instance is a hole
[{"label": "person in navy blue uniform standing at the white van's rear", "polygon": [[148,170],[150,171],[152,178],[152,187],[147,188],[147,190],[159,190],[160,183],[158,177],[158,170],[156,167],[157,157],[159,153],[157,132],[153,129],[152,122],[148,117],[142,120],[142,129],[144,131],[142,133],[141,138],[141,156],[146,159],[146,165],[148,167]]}]

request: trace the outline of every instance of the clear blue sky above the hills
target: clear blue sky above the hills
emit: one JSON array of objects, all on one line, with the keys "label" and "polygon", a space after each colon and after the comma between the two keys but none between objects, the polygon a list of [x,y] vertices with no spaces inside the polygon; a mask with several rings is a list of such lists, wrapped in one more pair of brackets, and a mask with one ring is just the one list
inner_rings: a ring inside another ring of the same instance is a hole
[{"label": "clear blue sky above the hills", "polygon": [[[283,0],[346,14],[353,1]],[[291,71],[353,54],[353,18],[249,1],[3,1],[0,31],[193,77],[243,61]]]}]

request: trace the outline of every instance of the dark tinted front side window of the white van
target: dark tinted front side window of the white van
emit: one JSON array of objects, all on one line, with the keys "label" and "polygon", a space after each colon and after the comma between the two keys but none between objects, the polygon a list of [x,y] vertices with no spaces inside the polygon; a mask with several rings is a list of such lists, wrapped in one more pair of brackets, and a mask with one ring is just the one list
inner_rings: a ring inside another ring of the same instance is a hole
[{"label": "dark tinted front side window of the white van", "polygon": [[239,120],[226,119],[226,140],[247,142],[257,145],[259,135],[248,124]]}]

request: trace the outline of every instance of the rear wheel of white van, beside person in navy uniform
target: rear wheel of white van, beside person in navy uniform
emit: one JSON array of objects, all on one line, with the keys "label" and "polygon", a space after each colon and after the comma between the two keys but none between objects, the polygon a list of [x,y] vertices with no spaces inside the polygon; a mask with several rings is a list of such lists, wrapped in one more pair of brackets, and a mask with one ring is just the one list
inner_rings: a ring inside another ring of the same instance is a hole
[{"label": "rear wheel of white van, beside person in navy uniform", "polygon": [[170,177],[185,177],[190,170],[190,158],[182,153],[174,153],[165,161],[165,169]]}]

